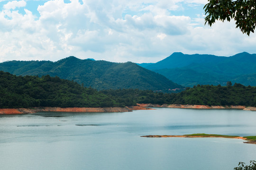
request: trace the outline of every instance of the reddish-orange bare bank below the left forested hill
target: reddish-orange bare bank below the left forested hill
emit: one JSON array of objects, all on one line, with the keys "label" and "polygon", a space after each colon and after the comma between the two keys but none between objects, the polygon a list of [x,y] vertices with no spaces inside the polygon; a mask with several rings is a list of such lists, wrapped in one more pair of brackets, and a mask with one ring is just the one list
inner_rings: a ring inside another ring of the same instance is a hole
[{"label": "reddish-orange bare bank below the left forested hill", "polygon": [[128,112],[132,110],[152,110],[140,106],[126,107],[104,107],[104,108],[87,108],[87,107],[35,107],[35,108],[15,108],[15,109],[0,109],[0,114],[31,114],[36,112]]}]

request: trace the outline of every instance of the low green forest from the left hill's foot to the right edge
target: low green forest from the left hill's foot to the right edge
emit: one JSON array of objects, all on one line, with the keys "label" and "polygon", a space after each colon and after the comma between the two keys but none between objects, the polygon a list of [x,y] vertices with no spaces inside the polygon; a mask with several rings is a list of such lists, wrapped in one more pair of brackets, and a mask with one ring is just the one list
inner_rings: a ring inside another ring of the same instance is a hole
[{"label": "low green forest from the left hill's foot to the right edge", "polygon": [[170,94],[136,89],[105,90],[102,92],[129,104],[244,105],[256,107],[256,87],[237,83],[233,86],[197,85],[193,88],[187,87],[183,92]]}]

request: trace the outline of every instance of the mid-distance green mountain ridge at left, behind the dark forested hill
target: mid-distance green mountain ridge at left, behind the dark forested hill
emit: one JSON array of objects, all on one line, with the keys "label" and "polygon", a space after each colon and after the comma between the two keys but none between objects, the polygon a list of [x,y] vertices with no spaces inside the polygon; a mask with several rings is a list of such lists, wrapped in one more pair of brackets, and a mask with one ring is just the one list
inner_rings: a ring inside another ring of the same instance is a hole
[{"label": "mid-distance green mountain ridge at left, behind the dark forested hill", "polygon": [[14,75],[50,75],[74,80],[86,87],[101,89],[132,88],[141,90],[168,90],[183,88],[158,73],[135,63],[114,63],[68,57],[52,61],[7,61],[0,70]]}]

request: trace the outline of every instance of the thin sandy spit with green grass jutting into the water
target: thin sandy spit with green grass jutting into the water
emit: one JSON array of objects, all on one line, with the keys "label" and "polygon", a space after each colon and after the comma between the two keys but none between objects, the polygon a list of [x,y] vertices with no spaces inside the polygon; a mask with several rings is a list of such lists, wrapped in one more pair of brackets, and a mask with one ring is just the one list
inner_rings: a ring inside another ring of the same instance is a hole
[{"label": "thin sandy spit with green grass jutting into the water", "polygon": [[222,137],[222,138],[231,138],[231,139],[243,139],[247,142],[244,142],[245,144],[256,144],[256,140],[248,139],[247,137],[241,137],[241,136],[224,136],[224,135],[207,135],[207,136],[200,136],[200,135],[146,135],[146,136],[140,136],[140,137]]}]

